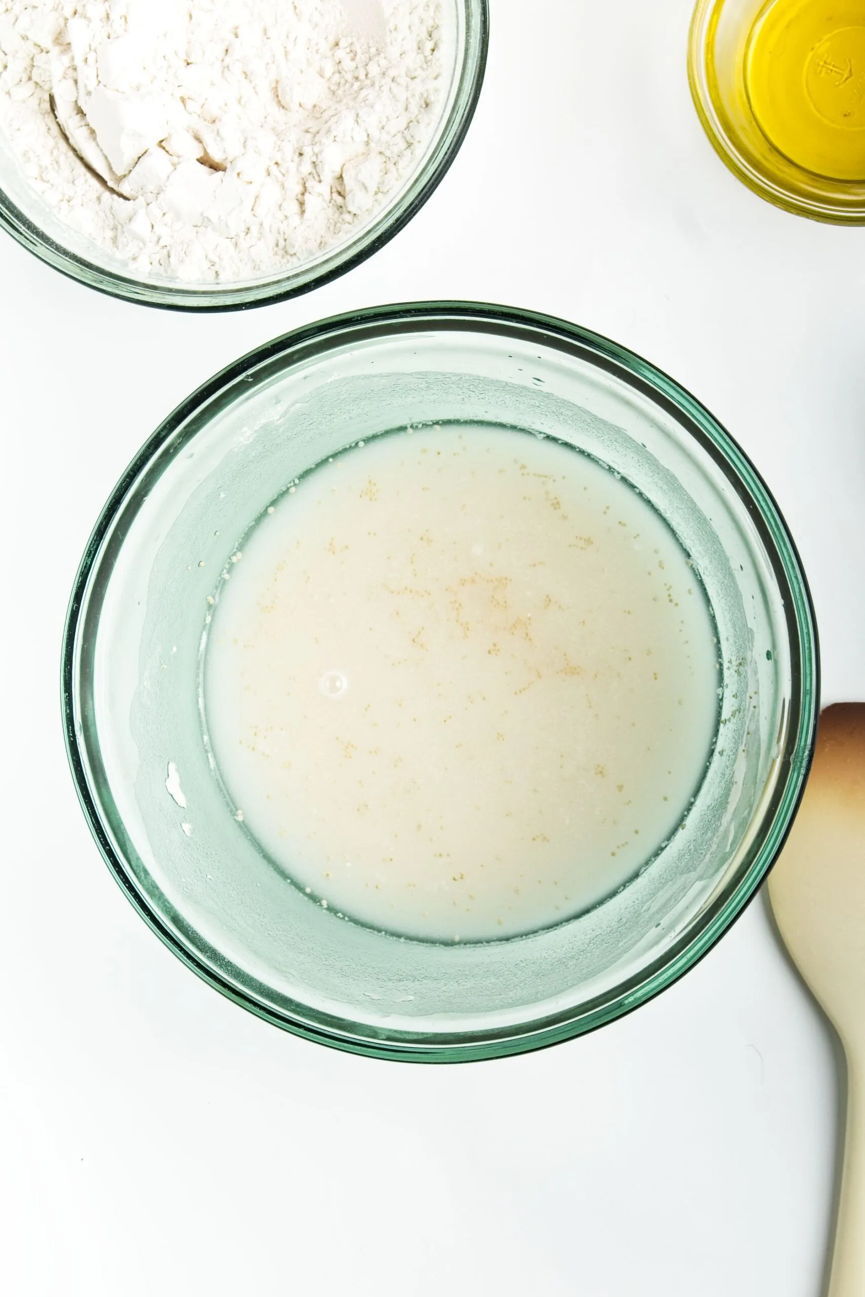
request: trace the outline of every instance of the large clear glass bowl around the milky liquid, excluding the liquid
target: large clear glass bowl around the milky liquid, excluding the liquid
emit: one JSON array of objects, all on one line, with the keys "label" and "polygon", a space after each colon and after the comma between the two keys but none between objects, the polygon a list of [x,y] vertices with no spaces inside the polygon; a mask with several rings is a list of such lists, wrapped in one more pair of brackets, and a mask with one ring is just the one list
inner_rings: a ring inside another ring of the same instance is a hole
[{"label": "large clear glass bowl around the milky liquid, excluding the liquid", "polygon": [[[721,738],[660,855],[587,913],[462,946],[345,922],[287,882],[232,817],[198,711],[207,573],[223,571],[250,523],[359,438],[453,420],[555,434],[638,486],[699,569],[722,660]],[[310,1039],[459,1061],[600,1026],[669,986],[729,927],[803,791],[817,634],[772,495],[676,383],[546,316],[392,306],[253,351],[153,434],[108,502],[75,582],[64,706],[102,855],[192,969]]]}]

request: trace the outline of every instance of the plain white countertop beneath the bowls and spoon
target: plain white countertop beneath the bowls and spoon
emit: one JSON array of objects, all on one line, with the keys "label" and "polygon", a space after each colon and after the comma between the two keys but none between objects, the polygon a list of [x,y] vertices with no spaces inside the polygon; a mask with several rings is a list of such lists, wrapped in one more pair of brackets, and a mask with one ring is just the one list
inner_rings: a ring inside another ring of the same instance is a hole
[{"label": "plain white countertop beneath the bowls and spoon", "polygon": [[690,0],[492,9],[451,173],[316,293],[149,311],[0,236],[9,1297],[818,1297],[838,1071],[763,900],[591,1036],[468,1067],[373,1062],[195,978],[112,881],[67,773],[66,599],[134,451],[252,346],[410,298],[563,315],[699,396],[800,546],[825,702],[865,699],[865,230],[777,211],[716,158],[687,91]]}]

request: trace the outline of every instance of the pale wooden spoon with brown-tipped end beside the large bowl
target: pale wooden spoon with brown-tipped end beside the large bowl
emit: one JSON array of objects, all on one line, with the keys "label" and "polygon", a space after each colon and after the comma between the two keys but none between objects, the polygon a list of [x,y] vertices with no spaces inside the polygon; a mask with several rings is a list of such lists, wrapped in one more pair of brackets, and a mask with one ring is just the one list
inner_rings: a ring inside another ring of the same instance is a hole
[{"label": "pale wooden spoon with brown-tipped end beside the large bowl", "polygon": [[847,1132],[829,1297],[865,1297],[865,703],[829,707],[772,909],[847,1057]]}]

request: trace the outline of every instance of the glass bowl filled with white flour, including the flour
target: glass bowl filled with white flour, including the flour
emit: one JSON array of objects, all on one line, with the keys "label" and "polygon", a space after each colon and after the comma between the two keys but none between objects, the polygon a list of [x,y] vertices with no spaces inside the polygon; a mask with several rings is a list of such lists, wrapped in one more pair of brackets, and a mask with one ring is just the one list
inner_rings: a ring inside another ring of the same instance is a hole
[{"label": "glass bowl filled with white flour, including the flour", "polygon": [[486,0],[0,0],[0,226],[153,306],[306,292],[455,157]]}]

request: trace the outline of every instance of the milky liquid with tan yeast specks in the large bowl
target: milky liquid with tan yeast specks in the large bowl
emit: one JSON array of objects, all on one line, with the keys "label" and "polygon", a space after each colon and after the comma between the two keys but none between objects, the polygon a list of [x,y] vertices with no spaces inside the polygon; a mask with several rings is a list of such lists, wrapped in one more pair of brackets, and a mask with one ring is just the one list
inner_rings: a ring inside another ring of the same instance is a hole
[{"label": "milky liquid with tan yeast specks in the large bowl", "polygon": [[210,751],[320,905],[514,936],[613,892],[687,812],[712,617],[669,527],[591,458],[503,428],[377,437],[292,485],[232,560]]}]

